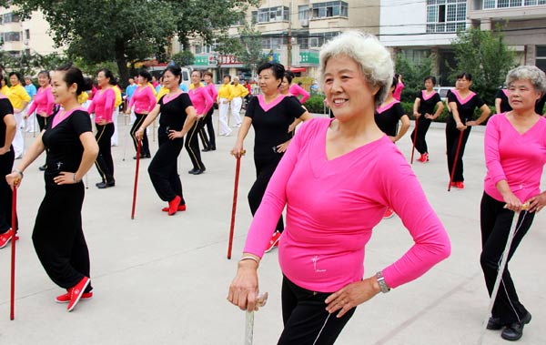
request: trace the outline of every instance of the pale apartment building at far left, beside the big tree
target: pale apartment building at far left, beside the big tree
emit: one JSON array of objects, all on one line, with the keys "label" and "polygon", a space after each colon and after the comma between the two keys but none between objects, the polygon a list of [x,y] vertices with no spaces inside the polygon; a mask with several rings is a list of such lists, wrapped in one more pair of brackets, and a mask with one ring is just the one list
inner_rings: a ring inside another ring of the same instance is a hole
[{"label": "pale apartment building at far left, beside the big tree", "polygon": [[13,56],[23,53],[51,54],[56,51],[51,36],[47,33],[49,25],[39,12],[30,19],[22,20],[15,14],[14,7],[0,8],[0,50]]}]

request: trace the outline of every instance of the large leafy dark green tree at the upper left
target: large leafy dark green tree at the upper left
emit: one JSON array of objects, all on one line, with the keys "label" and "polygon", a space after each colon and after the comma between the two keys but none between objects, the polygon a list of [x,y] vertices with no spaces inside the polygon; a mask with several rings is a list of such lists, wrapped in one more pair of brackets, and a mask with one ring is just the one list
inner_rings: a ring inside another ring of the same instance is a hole
[{"label": "large leafy dark green tree at the upper left", "polygon": [[[176,34],[203,36],[235,23],[241,9],[257,0],[13,0],[20,15],[40,10],[56,46],[87,64],[116,61],[125,85],[127,63],[147,57],[167,58],[166,47]],[[209,18],[214,18],[210,20]],[[187,48],[187,45],[185,45]]]}]

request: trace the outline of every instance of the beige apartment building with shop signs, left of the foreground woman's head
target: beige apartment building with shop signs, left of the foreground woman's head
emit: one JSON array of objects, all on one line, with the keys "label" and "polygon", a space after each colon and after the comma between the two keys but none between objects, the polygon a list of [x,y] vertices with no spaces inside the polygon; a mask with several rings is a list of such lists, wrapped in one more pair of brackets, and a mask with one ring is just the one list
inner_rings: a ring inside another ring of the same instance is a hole
[{"label": "beige apartment building with shop signs, left of the foreground woman's head", "polygon": [[[261,34],[262,54],[302,76],[318,76],[319,48],[330,38],[355,28],[379,34],[379,0],[264,0],[243,14]],[[243,20],[229,29],[238,36]],[[194,68],[209,68],[217,76],[251,77],[238,56],[222,56],[215,46],[191,42]]]}]

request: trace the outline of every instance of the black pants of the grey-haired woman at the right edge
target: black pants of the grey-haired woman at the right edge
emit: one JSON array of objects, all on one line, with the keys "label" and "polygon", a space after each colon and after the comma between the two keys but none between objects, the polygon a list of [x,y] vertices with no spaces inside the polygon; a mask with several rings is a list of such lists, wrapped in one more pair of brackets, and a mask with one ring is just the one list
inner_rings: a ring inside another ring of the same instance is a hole
[{"label": "black pants of the grey-haired woman at the right edge", "polygon": [[[521,239],[527,234],[529,228],[531,228],[534,215],[534,213],[521,211],[508,255],[509,262],[516,249],[518,249]],[[480,265],[489,295],[491,295],[495,279],[497,279],[502,253],[508,241],[513,217],[514,212],[505,209],[504,202],[491,198],[485,192],[483,193],[480,208],[482,248]],[[525,315],[527,315],[527,309],[523,307],[520,299],[518,299],[507,263],[504,272],[502,272],[501,286],[493,305],[492,316],[500,318],[502,324],[510,324],[515,321],[521,321],[521,318]]]}]

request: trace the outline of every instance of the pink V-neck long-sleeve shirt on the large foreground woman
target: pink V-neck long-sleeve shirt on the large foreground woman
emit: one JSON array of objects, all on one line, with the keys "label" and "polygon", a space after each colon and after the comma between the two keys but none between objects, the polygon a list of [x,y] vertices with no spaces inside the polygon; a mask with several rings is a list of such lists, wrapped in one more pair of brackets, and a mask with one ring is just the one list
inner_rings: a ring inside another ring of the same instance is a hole
[{"label": "pink V-neck long-sleeve shirt on the large foreground woman", "polygon": [[389,287],[420,277],[450,255],[450,239],[406,158],[381,137],[328,159],[333,119],[306,121],[268,184],[244,251],[261,257],[285,204],[287,226],[278,260],[299,287],[333,292],[364,274],[365,246],[388,206],[402,218],[414,245],[383,269]]}]

